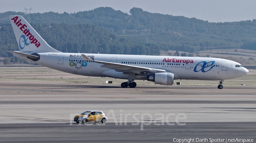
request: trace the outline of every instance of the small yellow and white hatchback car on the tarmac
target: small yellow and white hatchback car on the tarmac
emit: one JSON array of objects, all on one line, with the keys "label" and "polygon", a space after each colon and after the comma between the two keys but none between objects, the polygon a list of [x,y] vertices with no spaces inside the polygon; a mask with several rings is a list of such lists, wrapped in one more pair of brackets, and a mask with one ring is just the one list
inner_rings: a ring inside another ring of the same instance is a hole
[{"label": "small yellow and white hatchback car on the tarmac", "polygon": [[74,122],[102,122],[106,123],[108,120],[107,115],[102,111],[86,111],[81,113],[80,115],[75,116]]}]

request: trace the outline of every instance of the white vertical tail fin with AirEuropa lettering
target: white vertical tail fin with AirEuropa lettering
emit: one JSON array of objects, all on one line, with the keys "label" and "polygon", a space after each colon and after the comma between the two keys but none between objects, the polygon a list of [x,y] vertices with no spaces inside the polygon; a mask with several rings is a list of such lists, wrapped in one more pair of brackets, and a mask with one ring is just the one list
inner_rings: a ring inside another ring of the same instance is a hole
[{"label": "white vertical tail fin with AirEuropa lettering", "polygon": [[61,53],[49,46],[22,16],[9,16],[20,51]]}]

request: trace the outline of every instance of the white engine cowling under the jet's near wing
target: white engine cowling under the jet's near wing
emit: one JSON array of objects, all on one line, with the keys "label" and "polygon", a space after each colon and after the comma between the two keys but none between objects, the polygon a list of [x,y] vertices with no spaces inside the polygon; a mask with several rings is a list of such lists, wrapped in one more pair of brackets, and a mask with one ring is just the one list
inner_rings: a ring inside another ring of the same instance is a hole
[{"label": "white engine cowling under the jet's near wing", "polygon": [[155,84],[161,85],[172,85],[173,84],[173,73],[154,73],[153,75],[147,76],[147,81],[155,82]]}]

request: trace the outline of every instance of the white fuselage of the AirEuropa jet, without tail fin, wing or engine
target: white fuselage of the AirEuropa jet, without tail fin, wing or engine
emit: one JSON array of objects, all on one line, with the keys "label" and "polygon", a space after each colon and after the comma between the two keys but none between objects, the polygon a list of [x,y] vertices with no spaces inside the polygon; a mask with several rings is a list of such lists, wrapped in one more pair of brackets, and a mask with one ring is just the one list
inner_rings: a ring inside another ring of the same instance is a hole
[{"label": "white fuselage of the AirEuropa jet, without tail fin, wing or engine", "polygon": [[[84,76],[128,78],[128,73],[101,67],[103,64],[84,61],[80,53],[38,54],[40,60],[32,62],[55,70]],[[174,80],[225,80],[241,77],[248,73],[248,70],[239,63],[221,58],[88,53],[85,53],[85,55],[98,61],[163,69],[166,72],[174,73]],[[137,74],[136,79],[141,79],[145,75]]]}]

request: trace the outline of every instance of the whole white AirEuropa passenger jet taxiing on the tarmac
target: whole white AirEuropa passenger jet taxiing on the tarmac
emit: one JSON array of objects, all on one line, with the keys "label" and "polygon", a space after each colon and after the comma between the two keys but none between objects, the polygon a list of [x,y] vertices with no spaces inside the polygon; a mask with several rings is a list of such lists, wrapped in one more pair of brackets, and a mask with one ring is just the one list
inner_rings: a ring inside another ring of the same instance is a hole
[{"label": "whole white AirEuropa passenger jet taxiing on the tarmac", "polygon": [[136,87],[134,80],[172,85],[174,80],[218,81],[222,89],[225,79],[241,77],[248,70],[241,64],[206,57],[173,57],[62,53],[49,46],[22,16],[9,16],[20,51],[14,56],[55,70],[84,76],[127,79],[121,87]]}]

